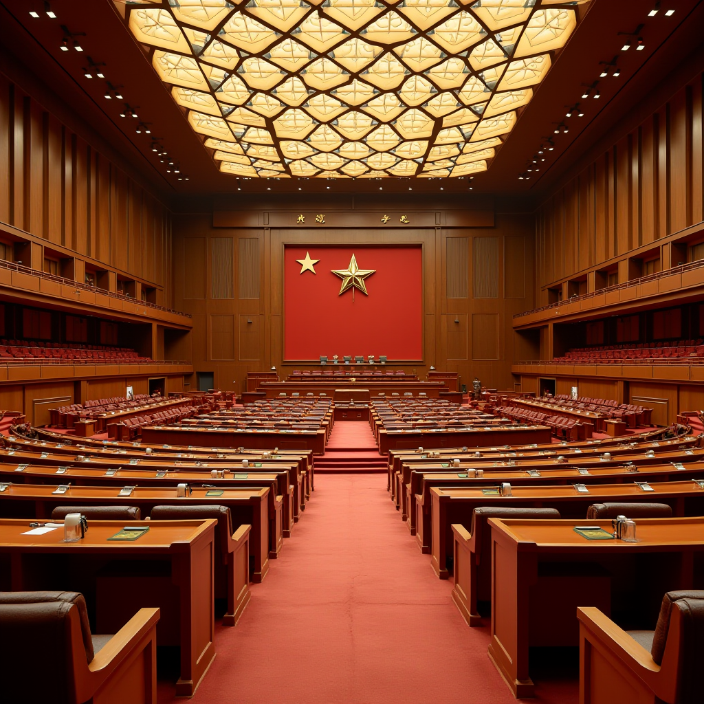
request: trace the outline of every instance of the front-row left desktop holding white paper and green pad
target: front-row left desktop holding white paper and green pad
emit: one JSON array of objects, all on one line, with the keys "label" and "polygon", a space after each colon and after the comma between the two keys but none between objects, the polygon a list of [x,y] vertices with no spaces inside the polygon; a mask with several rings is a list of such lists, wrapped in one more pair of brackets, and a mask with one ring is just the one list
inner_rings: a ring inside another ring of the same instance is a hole
[{"label": "front-row left desktop holding white paper and green pad", "polygon": [[[0,552],[20,551],[122,551],[167,552],[178,550],[179,545],[191,543],[214,530],[218,520],[208,518],[187,521],[91,521],[86,536],[74,543],[65,543],[63,527],[43,535],[23,535],[31,530],[30,520],[0,518]],[[42,521],[44,522],[44,521]],[[46,521],[63,524],[63,520]],[[125,525],[146,525],[149,530],[135,541],[109,541]]]}]

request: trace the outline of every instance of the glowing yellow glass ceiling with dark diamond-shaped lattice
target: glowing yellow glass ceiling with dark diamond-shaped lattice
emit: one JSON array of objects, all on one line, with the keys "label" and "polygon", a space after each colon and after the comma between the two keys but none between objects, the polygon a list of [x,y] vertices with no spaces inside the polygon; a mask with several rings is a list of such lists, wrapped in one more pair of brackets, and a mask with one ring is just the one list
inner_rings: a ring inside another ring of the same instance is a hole
[{"label": "glowing yellow glass ceiling with dark diamond-shaped lattice", "polygon": [[485,171],[589,0],[137,0],[125,22],[220,170]]}]

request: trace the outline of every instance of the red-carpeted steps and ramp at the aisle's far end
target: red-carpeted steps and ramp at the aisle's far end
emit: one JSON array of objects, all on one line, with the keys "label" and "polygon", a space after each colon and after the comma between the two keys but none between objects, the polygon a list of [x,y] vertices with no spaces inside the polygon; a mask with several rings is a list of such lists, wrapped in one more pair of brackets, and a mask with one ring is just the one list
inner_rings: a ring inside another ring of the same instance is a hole
[{"label": "red-carpeted steps and ramp at the aisle's far end", "polygon": [[368,423],[339,420],[325,448],[325,455],[315,458],[318,472],[386,472],[386,459],[379,448]]}]

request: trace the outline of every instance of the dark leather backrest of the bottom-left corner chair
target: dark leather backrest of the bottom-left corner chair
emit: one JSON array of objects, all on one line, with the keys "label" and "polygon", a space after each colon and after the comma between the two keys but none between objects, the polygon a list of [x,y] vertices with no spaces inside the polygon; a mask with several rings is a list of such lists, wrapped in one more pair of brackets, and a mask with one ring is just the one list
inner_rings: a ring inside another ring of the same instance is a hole
[{"label": "dark leather backrest of the bottom-left corner chair", "polygon": [[[89,664],[94,653],[82,594],[0,592],[4,701],[13,704],[75,703],[72,621],[80,624]],[[44,648],[41,662],[31,656],[38,647]]]}]

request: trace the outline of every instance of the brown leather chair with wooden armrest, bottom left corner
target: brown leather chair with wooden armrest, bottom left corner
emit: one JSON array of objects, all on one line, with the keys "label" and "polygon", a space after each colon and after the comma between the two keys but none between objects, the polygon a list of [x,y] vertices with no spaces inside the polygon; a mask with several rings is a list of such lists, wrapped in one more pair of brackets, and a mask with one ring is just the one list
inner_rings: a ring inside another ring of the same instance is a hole
[{"label": "brown leather chair with wooden armrest, bottom left corner", "polygon": [[[158,609],[140,609],[115,636],[92,636],[80,593],[0,592],[2,699],[100,704],[118,687],[125,701],[156,704],[158,620]],[[49,649],[37,669],[31,653],[42,643]]]}]

